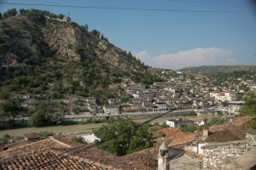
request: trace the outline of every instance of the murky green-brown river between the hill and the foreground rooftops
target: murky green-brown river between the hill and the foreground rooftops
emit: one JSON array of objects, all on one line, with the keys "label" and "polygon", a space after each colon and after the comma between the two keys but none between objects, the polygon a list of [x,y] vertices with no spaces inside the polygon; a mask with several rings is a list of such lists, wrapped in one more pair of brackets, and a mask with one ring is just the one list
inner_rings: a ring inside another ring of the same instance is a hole
[{"label": "murky green-brown river between the hill and the foreground rooftops", "polygon": [[[195,116],[185,116],[185,117],[195,117]],[[173,119],[176,117],[160,117],[154,122],[166,122],[168,119]],[[148,119],[140,119],[136,120],[135,122],[145,122]],[[26,133],[39,133],[39,132],[52,132],[52,133],[67,133],[67,132],[76,132],[76,131],[86,131],[98,127],[102,127],[103,124],[106,123],[88,123],[88,124],[77,124],[77,125],[67,125],[67,126],[52,126],[52,127],[26,127],[26,128],[19,128],[19,129],[10,129],[10,130],[3,130],[0,131],[0,138],[3,138],[4,134],[9,134],[10,136],[23,136]]]}]

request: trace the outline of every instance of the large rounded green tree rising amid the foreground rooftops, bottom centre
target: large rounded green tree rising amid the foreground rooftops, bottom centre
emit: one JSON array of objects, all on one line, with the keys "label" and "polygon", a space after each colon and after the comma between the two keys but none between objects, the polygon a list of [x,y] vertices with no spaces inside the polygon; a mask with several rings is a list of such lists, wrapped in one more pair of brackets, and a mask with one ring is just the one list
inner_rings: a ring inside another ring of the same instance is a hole
[{"label": "large rounded green tree rising amid the foreground rooftops, bottom centre", "polygon": [[108,125],[97,129],[96,136],[105,141],[100,148],[116,156],[125,156],[137,150],[143,150],[152,145],[148,125],[139,127],[131,120],[108,122]]}]

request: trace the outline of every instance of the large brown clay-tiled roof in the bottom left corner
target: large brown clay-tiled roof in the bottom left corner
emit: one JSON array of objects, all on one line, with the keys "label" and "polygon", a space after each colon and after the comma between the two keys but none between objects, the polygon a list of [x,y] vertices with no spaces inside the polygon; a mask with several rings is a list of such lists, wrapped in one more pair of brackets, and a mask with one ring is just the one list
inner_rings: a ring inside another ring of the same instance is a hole
[{"label": "large brown clay-tiled roof in the bottom left corner", "polygon": [[[140,161],[128,160],[124,156],[113,156],[96,147],[84,149],[80,146],[81,144],[72,144],[70,138],[61,136],[44,139],[12,150],[3,150],[0,152],[0,165],[3,169],[34,169],[42,163],[47,164],[44,169],[150,169]],[[71,156],[61,159],[66,151],[75,158]]]}]

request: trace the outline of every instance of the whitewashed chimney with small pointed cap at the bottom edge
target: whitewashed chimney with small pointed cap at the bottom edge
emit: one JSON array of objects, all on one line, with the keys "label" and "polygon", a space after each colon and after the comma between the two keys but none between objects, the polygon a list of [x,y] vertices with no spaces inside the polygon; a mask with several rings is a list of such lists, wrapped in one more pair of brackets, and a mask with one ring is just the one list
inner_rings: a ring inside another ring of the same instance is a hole
[{"label": "whitewashed chimney with small pointed cap at the bottom edge", "polygon": [[168,156],[169,156],[168,147],[166,146],[166,143],[163,142],[159,148],[157,170],[168,170],[169,169],[169,164],[167,162]]}]

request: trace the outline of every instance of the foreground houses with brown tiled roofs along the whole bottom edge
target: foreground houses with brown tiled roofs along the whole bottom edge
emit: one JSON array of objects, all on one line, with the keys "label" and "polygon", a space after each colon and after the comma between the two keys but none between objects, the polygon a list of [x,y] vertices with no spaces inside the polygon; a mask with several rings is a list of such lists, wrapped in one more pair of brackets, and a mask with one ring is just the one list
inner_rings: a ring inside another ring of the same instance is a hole
[{"label": "foreground houses with brown tiled roofs along the whole bottom edge", "polygon": [[[24,139],[0,147],[2,169],[253,169],[255,130],[245,126],[253,117],[213,126],[203,133],[184,133],[178,127],[158,130],[162,138],[154,146],[126,156],[113,156],[79,144],[72,136],[55,135],[40,139],[28,133]],[[151,127],[154,128],[154,127]],[[3,145],[2,145],[3,146]],[[248,168],[244,168],[248,167]]]}]

